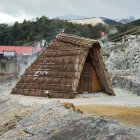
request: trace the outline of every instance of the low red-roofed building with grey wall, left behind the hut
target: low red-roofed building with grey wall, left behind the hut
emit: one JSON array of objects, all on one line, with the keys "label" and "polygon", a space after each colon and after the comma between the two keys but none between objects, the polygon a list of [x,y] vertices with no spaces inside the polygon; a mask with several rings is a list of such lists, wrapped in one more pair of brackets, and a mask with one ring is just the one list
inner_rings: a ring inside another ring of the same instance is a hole
[{"label": "low red-roofed building with grey wall, left behind the hut", "polygon": [[32,46],[0,46],[0,73],[22,74],[41,50]]}]

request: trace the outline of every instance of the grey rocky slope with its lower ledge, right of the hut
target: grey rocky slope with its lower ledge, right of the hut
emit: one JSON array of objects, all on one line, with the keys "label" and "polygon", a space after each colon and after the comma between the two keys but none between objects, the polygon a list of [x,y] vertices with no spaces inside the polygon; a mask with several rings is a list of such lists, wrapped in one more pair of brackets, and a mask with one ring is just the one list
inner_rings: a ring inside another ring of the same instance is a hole
[{"label": "grey rocky slope with its lower ledge, right of the hut", "polygon": [[140,96],[140,39],[102,48],[115,87]]}]

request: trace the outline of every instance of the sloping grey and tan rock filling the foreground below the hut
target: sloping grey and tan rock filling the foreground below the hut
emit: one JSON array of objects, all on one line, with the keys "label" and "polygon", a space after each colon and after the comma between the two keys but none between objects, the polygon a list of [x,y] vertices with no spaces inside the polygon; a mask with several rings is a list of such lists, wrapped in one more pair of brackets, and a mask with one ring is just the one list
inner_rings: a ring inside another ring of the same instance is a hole
[{"label": "sloping grey and tan rock filling the foreground below the hut", "polygon": [[21,105],[0,98],[1,140],[139,140],[140,131],[103,117],[66,109],[59,101]]}]

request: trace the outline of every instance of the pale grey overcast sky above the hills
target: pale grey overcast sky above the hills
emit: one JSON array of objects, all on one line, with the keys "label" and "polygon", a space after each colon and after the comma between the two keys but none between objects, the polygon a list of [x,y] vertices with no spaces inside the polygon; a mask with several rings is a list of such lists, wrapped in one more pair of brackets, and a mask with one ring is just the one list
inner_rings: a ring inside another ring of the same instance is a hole
[{"label": "pale grey overcast sky above the hills", "polygon": [[0,0],[0,23],[43,15],[140,18],[140,0]]}]

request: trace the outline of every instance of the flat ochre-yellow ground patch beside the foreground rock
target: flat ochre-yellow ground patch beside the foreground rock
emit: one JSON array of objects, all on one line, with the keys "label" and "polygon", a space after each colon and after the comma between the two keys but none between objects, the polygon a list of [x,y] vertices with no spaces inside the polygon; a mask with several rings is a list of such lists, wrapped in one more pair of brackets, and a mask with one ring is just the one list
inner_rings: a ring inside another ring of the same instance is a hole
[{"label": "flat ochre-yellow ground patch beside the foreground rock", "polygon": [[77,107],[89,114],[116,119],[128,125],[140,126],[140,107],[112,105],[81,105]]}]

